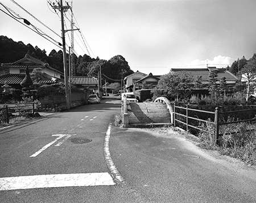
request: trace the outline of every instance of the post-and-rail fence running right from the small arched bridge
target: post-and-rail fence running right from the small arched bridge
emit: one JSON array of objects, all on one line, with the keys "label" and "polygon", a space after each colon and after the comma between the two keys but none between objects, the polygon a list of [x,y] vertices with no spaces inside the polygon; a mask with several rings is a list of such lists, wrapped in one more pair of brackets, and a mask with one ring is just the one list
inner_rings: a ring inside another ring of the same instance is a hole
[{"label": "post-and-rail fence running right from the small arched bridge", "polygon": [[[185,113],[178,113],[177,109],[183,109],[185,110]],[[195,120],[195,121],[200,121],[200,122],[205,122],[206,123],[210,123],[214,125],[214,141],[216,143],[218,143],[218,139],[220,137],[220,125],[227,125],[227,124],[234,124],[234,123],[238,123],[238,122],[252,122],[252,121],[256,121],[255,116],[253,119],[244,119],[244,120],[236,120],[236,121],[229,121],[229,122],[221,122],[220,121],[220,115],[228,115],[228,114],[240,114],[241,112],[250,112],[250,111],[255,111],[256,109],[243,109],[243,110],[238,110],[238,111],[227,111],[227,112],[220,112],[219,108],[216,107],[214,112],[210,112],[210,111],[203,111],[203,110],[199,110],[199,109],[192,109],[192,108],[188,108],[187,107],[177,107],[174,104],[174,126],[177,125],[177,122],[185,125],[185,130],[188,131],[188,128],[194,128],[203,132],[208,132],[208,130],[205,130],[203,128],[200,128],[200,126],[195,126],[195,125],[191,125],[189,124],[189,120]],[[192,117],[189,116],[189,112],[201,112],[201,113],[207,113],[208,115],[210,115],[209,117],[213,118],[213,121],[210,120],[203,120],[203,119],[199,119],[196,117]],[[179,119],[177,118],[177,116],[183,117],[184,119]],[[191,122],[190,122],[191,123]]]}]

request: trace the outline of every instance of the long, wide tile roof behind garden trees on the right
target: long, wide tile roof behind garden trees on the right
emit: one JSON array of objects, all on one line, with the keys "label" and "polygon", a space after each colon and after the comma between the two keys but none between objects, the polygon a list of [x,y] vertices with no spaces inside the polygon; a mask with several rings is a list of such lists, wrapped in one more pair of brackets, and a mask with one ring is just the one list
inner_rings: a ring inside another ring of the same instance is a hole
[{"label": "long, wide tile roof behind garden trees on the right", "polygon": [[185,77],[191,77],[193,81],[209,81],[210,72],[213,70],[217,70],[217,79],[220,81],[221,78],[225,77],[226,81],[237,81],[238,78],[236,75],[233,75],[228,70],[216,69],[216,67],[208,67],[208,69],[171,69],[170,73],[184,79]]}]

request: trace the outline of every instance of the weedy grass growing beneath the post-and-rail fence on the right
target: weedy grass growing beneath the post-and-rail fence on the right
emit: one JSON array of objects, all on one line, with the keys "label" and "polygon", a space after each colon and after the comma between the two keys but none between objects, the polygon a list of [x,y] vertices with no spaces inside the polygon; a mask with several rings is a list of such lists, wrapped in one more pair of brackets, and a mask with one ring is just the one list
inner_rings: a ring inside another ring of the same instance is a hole
[{"label": "weedy grass growing beneath the post-and-rail fence on the right", "polygon": [[220,154],[238,158],[243,162],[256,165],[256,126],[253,123],[236,123],[221,125],[219,143],[214,143],[214,126],[207,123],[203,126],[208,133],[200,132],[200,146],[217,150]]}]

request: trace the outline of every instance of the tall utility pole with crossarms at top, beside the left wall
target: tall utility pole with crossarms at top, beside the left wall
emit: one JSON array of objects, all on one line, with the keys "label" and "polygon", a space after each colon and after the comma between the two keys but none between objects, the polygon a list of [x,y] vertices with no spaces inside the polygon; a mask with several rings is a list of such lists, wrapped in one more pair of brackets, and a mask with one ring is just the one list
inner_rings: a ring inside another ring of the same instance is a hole
[{"label": "tall utility pole with crossarms at top, beside the left wall", "polygon": [[61,17],[61,38],[62,38],[62,45],[63,45],[63,64],[64,64],[64,81],[65,81],[65,94],[67,100],[67,109],[70,110],[70,95],[68,90],[68,69],[67,69],[67,53],[66,53],[66,43],[65,43],[65,30],[64,30],[64,18],[63,12],[68,11],[70,6],[63,6],[62,0],[60,0],[59,6],[52,6],[53,9],[60,10],[60,17]]}]

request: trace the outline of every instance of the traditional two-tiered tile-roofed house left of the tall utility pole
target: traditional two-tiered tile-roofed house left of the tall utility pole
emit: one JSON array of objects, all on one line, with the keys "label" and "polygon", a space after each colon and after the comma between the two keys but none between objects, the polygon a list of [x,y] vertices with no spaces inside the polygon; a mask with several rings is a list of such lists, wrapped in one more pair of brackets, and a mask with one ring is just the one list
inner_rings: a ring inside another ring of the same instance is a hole
[{"label": "traditional two-tiered tile-roofed house left of the tall utility pole", "polygon": [[22,89],[20,82],[23,81],[26,76],[25,69],[28,67],[30,73],[36,68],[42,69],[43,78],[38,83],[52,84],[58,82],[64,82],[64,74],[49,66],[46,62],[40,61],[30,54],[26,54],[24,58],[6,64],[1,64],[0,67],[0,92],[5,82],[7,82],[12,88]]}]

